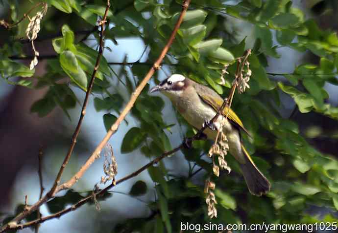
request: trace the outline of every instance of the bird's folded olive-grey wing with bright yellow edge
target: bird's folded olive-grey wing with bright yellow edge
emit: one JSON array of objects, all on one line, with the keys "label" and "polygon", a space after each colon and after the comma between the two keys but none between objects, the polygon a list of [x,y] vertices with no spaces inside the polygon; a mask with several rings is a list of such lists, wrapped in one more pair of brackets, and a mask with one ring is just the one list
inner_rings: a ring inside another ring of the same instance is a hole
[{"label": "bird's folded olive-grey wing with bright yellow edge", "polygon": [[[204,103],[212,106],[215,109],[215,111],[219,110],[219,108],[223,104],[223,99],[214,90],[203,85],[195,85],[195,88],[200,89],[197,90],[197,93],[204,93],[203,96],[198,94],[198,96]],[[230,122],[236,125],[237,127],[241,128],[244,132],[246,132],[250,136],[249,132],[246,130],[243,123],[241,122],[241,119],[236,115],[236,113],[233,110],[231,110],[231,108],[229,109],[229,107],[225,106],[222,114],[226,116],[228,114],[228,111],[229,111],[228,119],[230,120]]]}]

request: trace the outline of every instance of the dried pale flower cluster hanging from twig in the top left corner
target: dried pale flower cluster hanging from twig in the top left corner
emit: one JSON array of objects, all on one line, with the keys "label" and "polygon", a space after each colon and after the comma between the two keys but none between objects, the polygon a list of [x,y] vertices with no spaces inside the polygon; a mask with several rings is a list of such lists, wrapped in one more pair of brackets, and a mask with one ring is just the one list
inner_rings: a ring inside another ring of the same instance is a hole
[{"label": "dried pale flower cluster hanging from twig in the top left corner", "polygon": [[29,41],[32,42],[32,48],[34,51],[34,58],[29,64],[29,69],[34,69],[34,67],[38,64],[38,56],[39,52],[35,49],[34,46],[34,40],[38,37],[38,33],[40,31],[40,23],[42,18],[46,15],[48,9],[47,3],[45,3],[42,7],[42,11],[38,11],[33,18],[29,18],[29,23],[26,29],[26,37],[28,38]]}]

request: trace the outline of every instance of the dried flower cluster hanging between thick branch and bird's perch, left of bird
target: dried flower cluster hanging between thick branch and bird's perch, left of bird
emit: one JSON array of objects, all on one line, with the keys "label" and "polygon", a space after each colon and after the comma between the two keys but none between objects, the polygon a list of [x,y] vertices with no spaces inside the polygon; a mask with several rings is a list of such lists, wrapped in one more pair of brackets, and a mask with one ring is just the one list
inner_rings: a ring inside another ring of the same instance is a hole
[{"label": "dried flower cluster hanging between thick branch and bird's perch, left of bird", "polygon": [[[104,163],[103,163],[103,172],[105,176],[101,177],[101,184],[105,184],[107,181],[112,180],[115,182],[115,176],[118,173],[118,164],[113,153],[113,148],[110,144],[105,147],[104,150]],[[109,156],[110,155],[110,156]],[[110,161],[109,162],[109,157]]]}]

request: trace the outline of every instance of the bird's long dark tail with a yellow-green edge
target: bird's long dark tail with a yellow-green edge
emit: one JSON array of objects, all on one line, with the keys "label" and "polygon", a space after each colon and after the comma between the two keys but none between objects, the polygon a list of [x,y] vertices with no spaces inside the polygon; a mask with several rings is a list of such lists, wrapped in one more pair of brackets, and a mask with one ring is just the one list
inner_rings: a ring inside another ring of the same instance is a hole
[{"label": "bird's long dark tail with a yellow-green edge", "polygon": [[241,148],[246,158],[246,163],[241,164],[241,170],[249,191],[256,196],[266,194],[266,192],[270,191],[270,182],[256,167],[243,145],[241,145]]}]

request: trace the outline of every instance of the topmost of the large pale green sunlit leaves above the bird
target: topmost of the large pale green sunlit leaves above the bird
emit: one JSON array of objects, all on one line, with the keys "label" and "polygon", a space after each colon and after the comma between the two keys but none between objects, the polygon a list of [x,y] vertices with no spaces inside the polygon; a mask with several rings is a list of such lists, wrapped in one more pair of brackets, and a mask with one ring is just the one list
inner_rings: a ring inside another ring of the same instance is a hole
[{"label": "topmost of the large pale green sunlit leaves above the bird", "polygon": [[[172,22],[173,25],[176,24],[180,14],[181,13],[178,12],[178,13],[174,14],[173,17],[171,18],[171,22]],[[208,15],[207,12],[200,10],[200,9],[187,11],[184,18],[183,18],[183,21],[181,23],[180,28],[181,29],[188,29],[190,27],[201,24],[205,20],[207,15]]]}]

